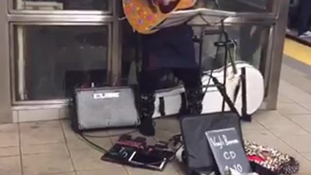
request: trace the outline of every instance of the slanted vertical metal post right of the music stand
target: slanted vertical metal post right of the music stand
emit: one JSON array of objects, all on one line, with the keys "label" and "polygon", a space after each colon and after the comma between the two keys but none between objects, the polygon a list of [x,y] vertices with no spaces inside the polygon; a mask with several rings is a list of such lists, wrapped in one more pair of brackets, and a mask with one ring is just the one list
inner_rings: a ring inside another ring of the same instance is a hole
[{"label": "slanted vertical metal post right of the music stand", "polygon": [[287,25],[289,0],[275,0],[273,3],[273,14],[276,16],[276,25],[272,26],[269,32],[267,52],[267,86],[266,86],[266,109],[274,110],[277,105],[277,95],[279,88],[279,79],[282,66],[285,28]]}]

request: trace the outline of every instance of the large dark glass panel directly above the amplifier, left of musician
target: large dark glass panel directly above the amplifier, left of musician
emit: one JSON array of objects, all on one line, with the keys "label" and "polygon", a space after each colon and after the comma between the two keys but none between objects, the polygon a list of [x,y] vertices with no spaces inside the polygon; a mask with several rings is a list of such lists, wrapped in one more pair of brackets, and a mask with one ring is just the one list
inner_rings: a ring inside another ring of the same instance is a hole
[{"label": "large dark glass panel directly above the amplifier, left of musician", "polygon": [[14,26],[15,96],[70,97],[80,84],[106,84],[107,26]]}]

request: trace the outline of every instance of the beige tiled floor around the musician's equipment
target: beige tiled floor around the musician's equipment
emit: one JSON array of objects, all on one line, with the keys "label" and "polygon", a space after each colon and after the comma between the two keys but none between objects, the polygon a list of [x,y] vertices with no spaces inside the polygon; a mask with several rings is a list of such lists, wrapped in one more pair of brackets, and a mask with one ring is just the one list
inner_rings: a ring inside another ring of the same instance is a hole
[{"label": "beige tiled floor around the musician's equipment", "polygon": [[[244,139],[291,154],[301,163],[299,175],[311,175],[311,94],[284,80],[280,82],[279,91],[276,111],[259,110],[252,123],[242,123]],[[160,119],[156,121],[155,137],[148,141],[167,140],[178,132],[175,119]],[[91,140],[109,149],[116,139]],[[67,120],[0,125],[1,175],[185,175],[184,167],[177,162],[171,162],[160,173],[104,162],[101,156],[101,152],[86,145],[71,131]]]}]

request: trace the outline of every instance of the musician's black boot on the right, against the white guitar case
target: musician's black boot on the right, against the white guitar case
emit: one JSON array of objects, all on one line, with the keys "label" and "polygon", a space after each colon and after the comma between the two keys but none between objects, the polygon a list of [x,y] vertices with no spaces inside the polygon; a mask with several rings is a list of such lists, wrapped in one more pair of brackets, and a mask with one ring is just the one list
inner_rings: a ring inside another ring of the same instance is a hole
[{"label": "musician's black boot on the right, against the white guitar case", "polygon": [[187,114],[201,114],[203,105],[204,93],[202,88],[186,89],[187,97]]}]

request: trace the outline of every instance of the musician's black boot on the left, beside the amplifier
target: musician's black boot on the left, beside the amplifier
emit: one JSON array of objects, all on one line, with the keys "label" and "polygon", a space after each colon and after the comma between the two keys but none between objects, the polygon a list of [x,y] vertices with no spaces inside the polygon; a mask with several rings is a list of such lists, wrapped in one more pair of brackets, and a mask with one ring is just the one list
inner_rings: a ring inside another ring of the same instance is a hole
[{"label": "musician's black boot on the left, beside the amplifier", "polygon": [[144,136],[154,136],[155,127],[152,120],[152,116],[155,112],[154,94],[147,94],[147,93],[140,94],[139,112],[142,117],[139,126],[139,132]]}]

